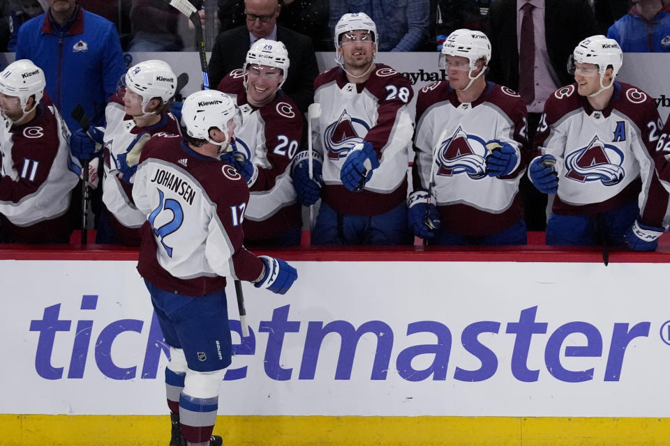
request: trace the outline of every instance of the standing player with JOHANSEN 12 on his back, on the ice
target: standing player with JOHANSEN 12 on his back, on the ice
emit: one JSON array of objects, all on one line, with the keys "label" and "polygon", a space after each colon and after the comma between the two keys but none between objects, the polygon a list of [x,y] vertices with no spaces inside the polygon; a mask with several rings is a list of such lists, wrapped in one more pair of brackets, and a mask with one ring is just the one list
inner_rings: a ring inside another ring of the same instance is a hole
[{"label": "standing player with JOHANSEN 12 on his back, on the ice", "polygon": [[156,134],[142,148],[133,199],[147,222],[137,270],[151,293],[170,362],[165,370],[173,431],[170,445],[221,445],[211,436],[218,386],[230,365],[232,341],[225,284],[240,279],[286,293],[297,279],[281,259],[255,256],[242,245],[246,180],[230,153],[239,109],[220,91],[184,101],[186,136]]}]

